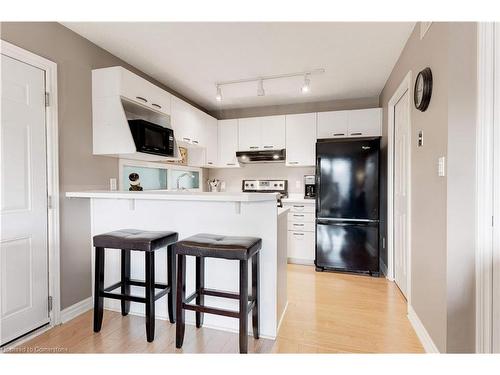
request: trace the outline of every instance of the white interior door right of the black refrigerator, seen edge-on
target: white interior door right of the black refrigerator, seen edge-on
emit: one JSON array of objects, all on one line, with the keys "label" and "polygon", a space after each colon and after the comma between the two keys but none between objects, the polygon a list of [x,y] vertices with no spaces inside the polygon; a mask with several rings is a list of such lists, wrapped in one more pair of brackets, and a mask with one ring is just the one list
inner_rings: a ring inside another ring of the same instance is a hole
[{"label": "white interior door right of the black refrigerator, seen edge-on", "polygon": [[409,93],[394,106],[394,276],[407,298],[408,276],[408,184],[410,166]]}]

